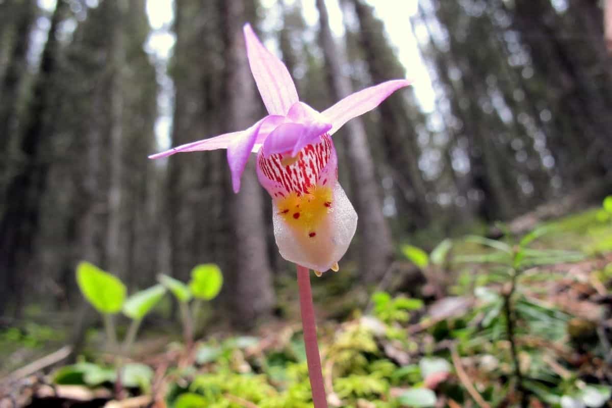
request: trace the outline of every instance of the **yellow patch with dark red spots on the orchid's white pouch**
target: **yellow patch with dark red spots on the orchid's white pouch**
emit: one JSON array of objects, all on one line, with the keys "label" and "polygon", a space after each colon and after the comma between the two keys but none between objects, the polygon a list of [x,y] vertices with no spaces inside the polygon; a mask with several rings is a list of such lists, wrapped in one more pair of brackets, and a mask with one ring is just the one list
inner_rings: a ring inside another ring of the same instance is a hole
[{"label": "yellow patch with dark red spots on the orchid's white pouch", "polygon": [[277,200],[278,215],[291,228],[310,239],[316,239],[316,230],[321,221],[332,210],[332,190],[329,187],[314,186],[308,193],[297,195],[291,191],[288,196]]}]

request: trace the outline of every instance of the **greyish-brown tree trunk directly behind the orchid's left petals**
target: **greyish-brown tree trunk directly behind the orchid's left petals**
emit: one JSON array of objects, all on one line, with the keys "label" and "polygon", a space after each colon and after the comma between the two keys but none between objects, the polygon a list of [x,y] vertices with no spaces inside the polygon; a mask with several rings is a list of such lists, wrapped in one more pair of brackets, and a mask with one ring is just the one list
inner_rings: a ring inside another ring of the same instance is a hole
[{"label": "greyish-brown tree trunk directly behind the orchid's left petals", "polygon": [[[225,132],[247,128],[258,119],[255,115],[258,102],[242,34],[247,16],[242,1],[222,2],[226,47]],[[226,177],[226,180],[229,179]],[[234,324],[251,328],[256,319],[271,313],[274,304],[265,233],[266,228],[272,226],[263,222],[262,190],[256,179],[253,160],[248,162],[242,174],[241,190],[231,196],[230,206],[235,247],[233,267],[228,270],[228,286],[231,288],[229,301]]]}]

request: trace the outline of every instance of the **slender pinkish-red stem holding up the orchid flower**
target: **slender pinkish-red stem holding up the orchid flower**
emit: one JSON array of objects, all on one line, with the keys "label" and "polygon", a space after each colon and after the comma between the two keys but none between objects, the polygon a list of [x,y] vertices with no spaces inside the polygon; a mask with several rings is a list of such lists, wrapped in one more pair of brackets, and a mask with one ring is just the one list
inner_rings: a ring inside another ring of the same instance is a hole
[{"label": "slender pinkish-red stem holding up the orchid flower", "polygon": [[321,356],[319,356],[319,346],[316,341],[315,308],[312,304],[312,291],[310,290],[310,271],[300,265],[297,265],[297,286],[300,292],[300,311],[302,312],[302,328],[304,329],[306,362],[308,363],[308,377],[310,377],[310,387],[312,388],[312,400],[315,403],[315,408],[327,408]]}]

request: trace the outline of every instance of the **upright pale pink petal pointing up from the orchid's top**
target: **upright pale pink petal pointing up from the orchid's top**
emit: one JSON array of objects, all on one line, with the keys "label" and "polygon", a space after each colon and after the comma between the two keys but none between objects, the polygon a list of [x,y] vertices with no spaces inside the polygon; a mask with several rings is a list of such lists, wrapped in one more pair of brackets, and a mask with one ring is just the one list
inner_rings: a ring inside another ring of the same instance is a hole
[{"label": "upright pale pink petal pointing up from the orchid's top", "polygon": [[247,45],[248,64],[261,99],[271,115],[286,115],[291,105],[297,102],[296,86],[289,71],[280,59],[274,56],[259,41],[250,24],[245,24],[244,39]]}]

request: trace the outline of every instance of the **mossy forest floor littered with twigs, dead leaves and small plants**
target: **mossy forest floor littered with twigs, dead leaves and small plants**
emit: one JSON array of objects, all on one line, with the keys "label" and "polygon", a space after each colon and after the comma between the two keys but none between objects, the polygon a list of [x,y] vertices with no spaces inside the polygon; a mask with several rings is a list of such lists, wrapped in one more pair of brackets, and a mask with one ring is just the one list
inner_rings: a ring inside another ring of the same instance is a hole
[{"label": "mossy forest floor littered with twigs, dead leaves and small plants", "polygon": [[[330,407],[612,406],[611,212],[398,253],[374,291],[351,285],[351,265],[313,278]],[[282,318],[207,330],[189,351],[157,327],[118,360],[94,330],[88,362],[28,368],[62,357],[65,335],[50,321],[2,330],[0,407],[312,407],[296,285],[279,286]]]}]

